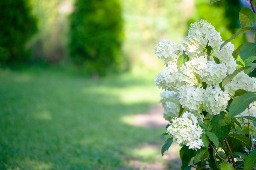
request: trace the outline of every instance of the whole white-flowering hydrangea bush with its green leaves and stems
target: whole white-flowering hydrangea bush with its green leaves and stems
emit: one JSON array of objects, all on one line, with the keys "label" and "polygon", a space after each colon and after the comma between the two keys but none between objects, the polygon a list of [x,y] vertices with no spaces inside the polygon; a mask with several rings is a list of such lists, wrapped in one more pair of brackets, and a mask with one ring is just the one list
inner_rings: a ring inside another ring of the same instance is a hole
[{"label": "whole white-flowering hydrangea bush with its green leaves and stems", "polygon": [[[251,1],[254,9],[253,4],[256,0]],[[177,142],[182,170],[256,167],[256,79],[248,76],[256,66],[256,44],[235,50],[230,42],[254,30],[256,17],[244,7],[239,18],[242,28],[226,41],[202,19],[190,25],[183,44],[166,39],[154,49],[166,65],[154,82],[164,89],[160,103],[170,121],[161,152]]]}]

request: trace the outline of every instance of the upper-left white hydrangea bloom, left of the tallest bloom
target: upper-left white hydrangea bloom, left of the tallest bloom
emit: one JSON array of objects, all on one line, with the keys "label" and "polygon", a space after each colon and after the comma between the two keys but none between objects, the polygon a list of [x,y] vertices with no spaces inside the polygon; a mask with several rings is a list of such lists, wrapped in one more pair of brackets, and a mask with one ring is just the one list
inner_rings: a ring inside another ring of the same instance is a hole
[{"label": "upper-left white hydrangea bloom, left of the tallest bloom", "polygon": [[177,62],[178,57],[183,54],[185,47],[177,44],[169,39],[160,41],[154,48],[158,58],[164,61],[164,64],[169,62]]}]

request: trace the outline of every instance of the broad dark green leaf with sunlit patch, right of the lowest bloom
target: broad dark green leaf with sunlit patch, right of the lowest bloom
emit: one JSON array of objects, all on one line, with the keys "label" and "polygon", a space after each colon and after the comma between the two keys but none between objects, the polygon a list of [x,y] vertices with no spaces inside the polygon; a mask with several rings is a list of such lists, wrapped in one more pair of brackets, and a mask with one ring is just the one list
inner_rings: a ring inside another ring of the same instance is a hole
[{"label": "broad dark green leaf with sunlit patch, right of the lowest bloom", "polygon": [[222,141],[230,132],[231,120],[229,115],[225,112],[220,112],[213,116],[211,121],[212,132]]}]

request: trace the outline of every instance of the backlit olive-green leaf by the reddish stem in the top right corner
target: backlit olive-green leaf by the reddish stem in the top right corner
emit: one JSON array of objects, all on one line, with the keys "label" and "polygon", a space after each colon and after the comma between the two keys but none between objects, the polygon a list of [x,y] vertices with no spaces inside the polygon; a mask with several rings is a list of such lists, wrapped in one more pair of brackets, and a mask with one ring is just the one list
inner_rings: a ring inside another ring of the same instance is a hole
[{"label": "backlit olive-green leaf by the reddish stem in the top right corner", "polygon": [[252,27],[255,24],[253,12],[247,7],[242,7],[239,12],[239,20],[242,28]]}]

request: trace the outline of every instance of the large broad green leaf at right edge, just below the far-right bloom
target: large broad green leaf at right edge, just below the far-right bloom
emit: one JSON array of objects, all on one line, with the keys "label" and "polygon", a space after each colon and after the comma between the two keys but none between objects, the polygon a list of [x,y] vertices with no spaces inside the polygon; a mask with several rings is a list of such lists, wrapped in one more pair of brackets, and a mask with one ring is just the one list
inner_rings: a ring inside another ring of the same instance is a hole
[{"label": "large broad green leaf at right edge, just below the far-right bloom", "polygon": [[229,118],[242,113],[254,101],[256,101],[256,94],[254,93],[246,93],[236,97],[229,107]]}]

